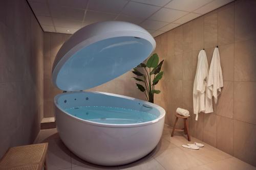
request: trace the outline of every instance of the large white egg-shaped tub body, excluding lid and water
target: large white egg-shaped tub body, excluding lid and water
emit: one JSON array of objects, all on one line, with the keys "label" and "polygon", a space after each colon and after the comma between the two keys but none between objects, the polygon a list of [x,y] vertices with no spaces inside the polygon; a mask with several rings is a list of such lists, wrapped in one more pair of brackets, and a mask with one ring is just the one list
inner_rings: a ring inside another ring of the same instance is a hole
[{"label": "large white egg-shaped tub body, excluding lid and water", "polygon": [[[67,92],[54,98],[57,130],[65,145],[80,158],[113,166],[133,162],[150,153],[159,142],[165,111],[155,104],[104,92]],[[68,108],[100,106],[145,112],[156,117],[142,123],[109,123],[79,118]]]}]

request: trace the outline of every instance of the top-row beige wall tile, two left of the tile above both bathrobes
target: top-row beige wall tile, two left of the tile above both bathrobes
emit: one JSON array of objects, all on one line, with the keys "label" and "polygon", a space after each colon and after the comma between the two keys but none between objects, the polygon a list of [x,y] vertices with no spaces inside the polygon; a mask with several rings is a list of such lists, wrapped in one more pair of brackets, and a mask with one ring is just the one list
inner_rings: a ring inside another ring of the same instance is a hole
[{"label": "top-row beige wall tile, two left of the tile above both bathrobes", "polygon": [[183,52],[192,52],[193,44],[193,22],[187,22],[183,25]]}]

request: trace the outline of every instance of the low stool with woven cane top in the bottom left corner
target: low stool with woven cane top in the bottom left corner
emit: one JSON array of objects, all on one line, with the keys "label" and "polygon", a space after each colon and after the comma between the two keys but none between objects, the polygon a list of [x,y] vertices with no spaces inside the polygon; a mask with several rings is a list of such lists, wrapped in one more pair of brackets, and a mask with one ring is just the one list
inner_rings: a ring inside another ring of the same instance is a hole
[{"label": "low stool with woven cane top in the bottom left corner", "polygon": [[47,170],[47,149],[48,143],[10,148],[0,161],[0,170],[41,170],[42,167]]}]

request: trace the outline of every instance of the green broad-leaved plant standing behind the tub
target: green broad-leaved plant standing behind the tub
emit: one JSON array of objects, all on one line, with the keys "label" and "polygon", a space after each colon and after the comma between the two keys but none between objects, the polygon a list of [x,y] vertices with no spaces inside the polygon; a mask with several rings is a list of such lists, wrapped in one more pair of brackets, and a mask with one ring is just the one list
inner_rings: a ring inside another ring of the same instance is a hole
[{"label": "green broad-leaved plant standing behind the tub", "polygon": [[[146,64],[141,63],[133,69],[133,73],[138,77],[133,77],[138,83],[136,83],[137,88],[144,92],[148,102],[154,103],[154,94],[159,94],[161,91],[155,89],[155,85],[163,77],[163,71],[161,67],[163,64],[162,60],[159,62],[159,57],[155,53],[146,62]],[[142,83],[142,84],[139,84]]]}]

